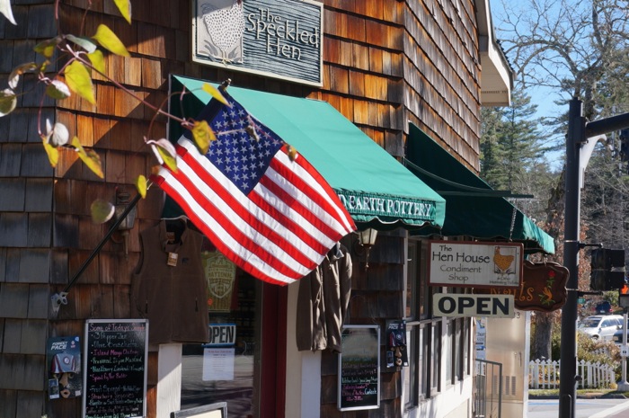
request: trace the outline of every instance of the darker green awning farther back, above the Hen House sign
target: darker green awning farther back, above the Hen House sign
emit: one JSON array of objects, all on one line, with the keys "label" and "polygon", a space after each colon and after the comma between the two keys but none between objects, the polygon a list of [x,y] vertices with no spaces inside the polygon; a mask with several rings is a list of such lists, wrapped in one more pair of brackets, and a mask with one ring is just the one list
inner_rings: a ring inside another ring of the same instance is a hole
[{"label": "darker green awning farther back, above the Hen House sign", "polygon": [[552,236],[413,124],[406,142],[406,156],[407,168],[447,202],[446,220],[441,229],[422,227],[412,231],[412,235],[513,240],[522,242],[529,253],[554,253]]}]

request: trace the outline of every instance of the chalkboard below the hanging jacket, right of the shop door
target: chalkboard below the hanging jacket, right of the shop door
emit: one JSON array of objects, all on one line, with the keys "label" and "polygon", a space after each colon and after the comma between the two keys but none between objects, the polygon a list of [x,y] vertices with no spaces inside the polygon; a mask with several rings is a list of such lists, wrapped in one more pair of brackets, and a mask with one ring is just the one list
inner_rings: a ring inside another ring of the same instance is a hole
[{"label": "chalkboard below the hanging jacket, right of the shop door", "polygon": [[341,411],[380,407],[380,328],[346,325],[339,353],[338,407]]}]

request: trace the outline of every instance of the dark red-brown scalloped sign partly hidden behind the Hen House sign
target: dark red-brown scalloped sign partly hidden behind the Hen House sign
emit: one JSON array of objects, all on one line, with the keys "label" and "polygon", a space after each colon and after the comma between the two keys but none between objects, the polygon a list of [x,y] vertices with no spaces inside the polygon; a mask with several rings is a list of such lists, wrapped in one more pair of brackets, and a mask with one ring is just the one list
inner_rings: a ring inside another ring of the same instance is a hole
[{"label": "dark red-brown scalloped sign partly hidden behind the Hen House sign", "polygon": [[569,276],[568,269],[557,262],[525,260],[518,289],[474,289],[474,294],[513,295],[519,310],[553,312],[565,305]]}]

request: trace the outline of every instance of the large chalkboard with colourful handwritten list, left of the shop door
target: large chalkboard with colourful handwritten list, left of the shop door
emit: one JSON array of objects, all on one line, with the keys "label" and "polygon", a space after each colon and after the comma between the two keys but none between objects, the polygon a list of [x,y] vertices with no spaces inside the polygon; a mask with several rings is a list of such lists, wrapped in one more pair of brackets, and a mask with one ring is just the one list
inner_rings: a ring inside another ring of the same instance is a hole
[{"label": "large chalkboard with colourful handwritten list, left of the shop door", "polygon": [[84,418],[146,415],[146,319],[85,322]]}]

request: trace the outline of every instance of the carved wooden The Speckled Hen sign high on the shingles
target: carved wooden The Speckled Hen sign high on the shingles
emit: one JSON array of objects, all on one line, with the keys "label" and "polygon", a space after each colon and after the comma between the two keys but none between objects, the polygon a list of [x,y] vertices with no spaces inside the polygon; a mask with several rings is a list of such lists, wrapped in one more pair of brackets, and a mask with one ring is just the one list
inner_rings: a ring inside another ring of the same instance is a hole
[{"label": "carved wooden The Speckled Hen sign high on the shingles", "polygon": [[323,85],[323,3],[195,0],[192,4],[193,61]]}]

